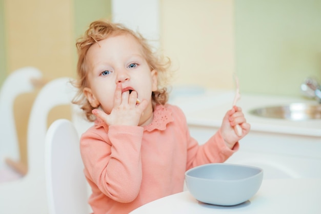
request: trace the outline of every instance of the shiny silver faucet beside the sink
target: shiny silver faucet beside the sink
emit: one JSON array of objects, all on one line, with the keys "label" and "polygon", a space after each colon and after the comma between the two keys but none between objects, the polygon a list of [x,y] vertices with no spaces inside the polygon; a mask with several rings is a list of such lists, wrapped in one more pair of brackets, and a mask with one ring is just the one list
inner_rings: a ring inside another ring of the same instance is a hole
[{"label": "shiny silver faucet beside the sink", "polygon": [[316,79],[307,78],[301,84],[301,91],[305,96],[314,98],[321,103],[321,87]]}]

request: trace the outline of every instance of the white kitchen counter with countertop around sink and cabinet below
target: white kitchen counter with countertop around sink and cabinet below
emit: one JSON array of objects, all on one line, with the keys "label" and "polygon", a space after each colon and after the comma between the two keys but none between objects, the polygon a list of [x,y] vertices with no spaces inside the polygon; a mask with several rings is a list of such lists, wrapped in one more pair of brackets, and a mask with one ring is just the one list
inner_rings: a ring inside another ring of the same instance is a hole
[{"label": "white kitchen counter with countertop around sink and cabinet below", "polygon": [[[182,108],[191,136],[202,144],[219,128],[233,97],[233,92],[206,92],[174,100],[173,104]],[[321,120],[289,121],[248,113],[263,106],[293,102],[314,101],[243,94],[237,105],[242,107],[251,131],[240,140],[239,151],[226,162],[262,167],[264,179],[321,178]]]}]

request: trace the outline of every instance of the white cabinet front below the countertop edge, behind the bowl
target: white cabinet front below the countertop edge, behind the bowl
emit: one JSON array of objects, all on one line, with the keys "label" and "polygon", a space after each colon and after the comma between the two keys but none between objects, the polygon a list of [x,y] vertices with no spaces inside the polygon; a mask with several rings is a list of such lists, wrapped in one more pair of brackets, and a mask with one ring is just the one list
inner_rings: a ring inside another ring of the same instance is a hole
[{"label": "white cabinet front below the countertop edge, behind the bowl", "polygon": [[[204,143],[216,129],[190,125],[191,135]],[[321,140],[317,137],[251,131],[239,151],[226,162],[258,166],[264,179],[321,178]]]}]

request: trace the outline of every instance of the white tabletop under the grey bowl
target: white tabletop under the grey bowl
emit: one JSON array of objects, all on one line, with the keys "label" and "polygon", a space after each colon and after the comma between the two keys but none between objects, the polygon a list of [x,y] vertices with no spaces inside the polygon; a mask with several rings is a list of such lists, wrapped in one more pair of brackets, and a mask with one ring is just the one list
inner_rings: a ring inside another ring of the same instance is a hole
[{"label": "white tabletop under the grey bowl", "polygon": [[189,191],[145,204],[137,213],[321,213],[321,179],[271,179],[250,200],[235,206],[198,202]]}]

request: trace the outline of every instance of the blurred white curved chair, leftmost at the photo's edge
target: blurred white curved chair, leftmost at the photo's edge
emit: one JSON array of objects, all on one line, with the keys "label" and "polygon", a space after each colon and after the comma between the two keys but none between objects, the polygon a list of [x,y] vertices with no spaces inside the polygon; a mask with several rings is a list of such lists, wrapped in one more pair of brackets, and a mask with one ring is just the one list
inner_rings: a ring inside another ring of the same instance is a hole
[{"label": "blurred white curved chair, leftmost at the photo's edge", "polygon": [[24,67],[13,71],[0,90],[0,182],[21,177],[5,164],[5,159],[19,161],[19,146],[14,120],[13,104],[19,94],[35,89],[33,80],[41,79],[42,72],[33,67]]}]

